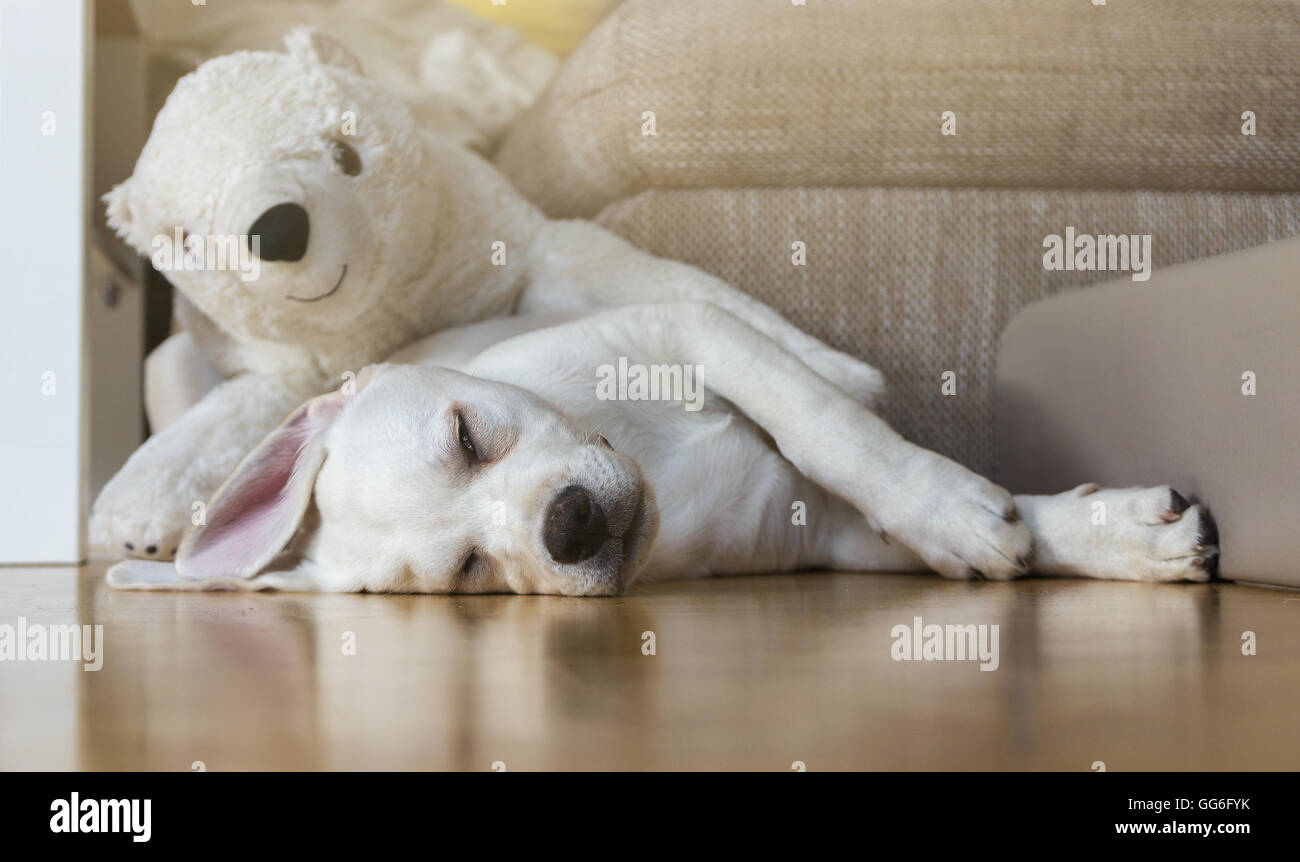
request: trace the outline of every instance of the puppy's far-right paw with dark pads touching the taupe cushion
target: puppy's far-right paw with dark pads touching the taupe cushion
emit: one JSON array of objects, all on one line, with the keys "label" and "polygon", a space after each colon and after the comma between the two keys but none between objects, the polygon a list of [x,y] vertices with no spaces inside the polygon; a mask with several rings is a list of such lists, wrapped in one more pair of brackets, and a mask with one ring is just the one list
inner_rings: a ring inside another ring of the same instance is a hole
[{"label": "puppy's far-right paw with dark pads touching the taupe cushion", "polygon": [[1127,581],[1208,581],[1218,571],[1218,527],[1169,485],[1080,485],[1020,501],[1035,540],[1035,571]]}]

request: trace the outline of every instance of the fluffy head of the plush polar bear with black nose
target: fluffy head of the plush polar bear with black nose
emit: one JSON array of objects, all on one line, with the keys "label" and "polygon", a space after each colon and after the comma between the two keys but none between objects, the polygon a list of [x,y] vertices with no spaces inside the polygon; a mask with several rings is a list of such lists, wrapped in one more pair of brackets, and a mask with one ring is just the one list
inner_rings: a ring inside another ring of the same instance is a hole
[{"label": "fluffy head of the plush polar bear with black nose", "polygon": [[309,343],[429,265],[437,186],[400,99],[320,34],[286,43],[182,78],[105,202],[228,334]]}]

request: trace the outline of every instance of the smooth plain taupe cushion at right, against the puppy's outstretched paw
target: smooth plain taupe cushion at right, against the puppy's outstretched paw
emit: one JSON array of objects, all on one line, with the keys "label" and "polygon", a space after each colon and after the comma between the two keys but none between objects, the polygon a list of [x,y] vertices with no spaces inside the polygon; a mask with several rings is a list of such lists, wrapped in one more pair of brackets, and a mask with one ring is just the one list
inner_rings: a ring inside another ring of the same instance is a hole
[{"label": "smooth plain taupe cushion at right, against the puppy's outstretched paw", "polygon": [[997,365],[998,477],[1171,484],[1214,512],[1225,577],[1300,586],[1296,273],[1290,239],[1026,308]]}]

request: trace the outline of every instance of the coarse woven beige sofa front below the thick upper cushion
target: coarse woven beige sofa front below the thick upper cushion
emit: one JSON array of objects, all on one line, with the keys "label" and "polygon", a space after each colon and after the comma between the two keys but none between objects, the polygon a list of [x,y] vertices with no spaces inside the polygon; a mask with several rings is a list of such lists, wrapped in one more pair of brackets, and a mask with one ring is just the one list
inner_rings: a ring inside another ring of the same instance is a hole
[{"label": "coarse woven beige sofa front below the thick upper cushion", "polygon": [[[1030,302],[1115,277],[1045,272],[1045,235],[1066,225],[1152,234],[1158,269],[1300,234],[1300,194],[647,191],[610,205],[598,221],[727,280],[872,363],[889,384],[884,415],[901,433],[993,473],[1002,328]],[[796,241],[807,246],[803,267],[792,264]],[[945,371],[957,374],[956,395],[941,394]]]}]

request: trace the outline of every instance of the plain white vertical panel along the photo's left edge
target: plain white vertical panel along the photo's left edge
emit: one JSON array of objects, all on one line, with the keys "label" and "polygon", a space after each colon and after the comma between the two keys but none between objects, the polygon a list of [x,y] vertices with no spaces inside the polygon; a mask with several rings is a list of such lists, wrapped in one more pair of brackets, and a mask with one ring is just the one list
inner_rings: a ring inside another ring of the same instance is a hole
[{"label": "plain white vertical panel along the photo's left edge", "polygon": [[91,33],[88,0],[0,1],[5,563],[83,556]]}]

